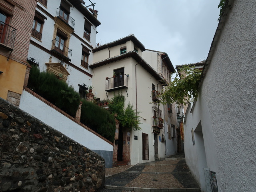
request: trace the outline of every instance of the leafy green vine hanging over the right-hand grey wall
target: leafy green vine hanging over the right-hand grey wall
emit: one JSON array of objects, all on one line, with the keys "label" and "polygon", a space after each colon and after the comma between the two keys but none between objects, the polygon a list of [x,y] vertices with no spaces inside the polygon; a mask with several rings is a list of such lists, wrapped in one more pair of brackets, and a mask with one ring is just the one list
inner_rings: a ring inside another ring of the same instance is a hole
[{"label": "leafy green vine hanging over the right-hand grey wall", "polygon": [[179,73],[172,74],[175,75],[174,79],[159,95],[160,103],[177,102],[186,105],[192,96],[195,100],[198,97],[198,83],[202,71],[195,69],[194,66],[184,65],[179,69]]}]

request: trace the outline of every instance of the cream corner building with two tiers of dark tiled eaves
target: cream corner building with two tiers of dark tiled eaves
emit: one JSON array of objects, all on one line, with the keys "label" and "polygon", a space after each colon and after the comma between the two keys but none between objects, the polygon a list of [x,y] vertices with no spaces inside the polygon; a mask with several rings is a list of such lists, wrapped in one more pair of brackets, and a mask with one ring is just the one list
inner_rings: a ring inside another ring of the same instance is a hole
[{"label": "cream corner building with two tiers of dark tiled eaves", "polygon": [[165,80],[142,58],[144,50],[132,34],[94,48],[94,63],[90,65],[94,96],[100,100],[110,99],[114,92],[122,91],[125,106],[130,102],[141,112],[140,131],[119,130],[126,134],[118,141],[123,148],[119,151],[118,161],[126,164],[154,161],[165,155],[164,130],[159,126],[163,105],[154,102]]}]

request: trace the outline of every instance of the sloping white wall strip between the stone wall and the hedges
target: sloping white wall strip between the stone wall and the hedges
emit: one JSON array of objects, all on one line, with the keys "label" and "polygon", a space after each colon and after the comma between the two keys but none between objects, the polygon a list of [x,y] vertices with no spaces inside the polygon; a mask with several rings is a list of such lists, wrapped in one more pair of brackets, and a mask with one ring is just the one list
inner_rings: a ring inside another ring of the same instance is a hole
[{"label": "sloping white wall strip between the stone wall and the hedges", "polygon": [[26,91],[22,93],[20,108],[90,150],[113,151],[111,144],[66,118]]}]

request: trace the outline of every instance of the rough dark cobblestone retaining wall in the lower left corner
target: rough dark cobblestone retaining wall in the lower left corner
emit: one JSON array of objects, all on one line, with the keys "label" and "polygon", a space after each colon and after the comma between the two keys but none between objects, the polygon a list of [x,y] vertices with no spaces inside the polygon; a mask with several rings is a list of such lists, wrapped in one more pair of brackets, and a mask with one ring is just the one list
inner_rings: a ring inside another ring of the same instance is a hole
[{"label": "rough dark cobblestone retaining wall in the lower left corner", "polygon": [[0,191],[94,192],[104,159],[0,98]]}]

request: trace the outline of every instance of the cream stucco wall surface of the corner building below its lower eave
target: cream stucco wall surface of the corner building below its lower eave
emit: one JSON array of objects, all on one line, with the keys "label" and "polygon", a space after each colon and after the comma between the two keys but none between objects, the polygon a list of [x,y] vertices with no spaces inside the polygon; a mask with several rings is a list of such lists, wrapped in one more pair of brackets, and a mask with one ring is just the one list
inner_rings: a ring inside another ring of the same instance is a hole
[{"label": "cream stucco wall surface of the corner building below its lower eave", "polygon": [[[122,89],[122,94],[126,98],[126,106],[128,102],[134,105],[134,109],[136,108],[136,81],[135,81],[135,66],[138,62],[136,62],[132,58],[125,58],[118,62],[112,62],[110,64],[106,64],[93,69],[93,78],[92,82],[94,85],[93,92],[96,97],[100,98],[100,100],[107,99],[105,92],[105,82],[106,77],[112,77],[113,70],[124,67],[124,73],[129,74],[128,77],[128,88],[127,93],[126,90]],[[154,134],[152,130],[153,123],[153,112],[152,106],[150,102],[152,102],[151,91],[152,91],[152,83],[157,85],[159,82],[152,77],[140,64],[136,66],[137,71],[137,109],[141,113],[139,114],[142,118],[142,124],[140,127],[142,130],[140,131],[132,131],[131,132],[131,164],[143,163],[154,161]],[[162,89],[162,86],[159,87]],[[120,90],[121,91],[121,90]],[[118,90],[115,91],[116,93]],[[108,92],[108,98],[112,98],[114,92]],[[163,110],[163,106],[160,105],[160,110]],[[149,142],[149,160],[142,160],[142,133],[148,134],[148,142]],[[162,137],[164,130],[161,130],[159,136]],[[134,135],[138,136],[138,140],[134,140]],[[158,142],[158,155],[163,156],[164,154],[164,143]]]}]

